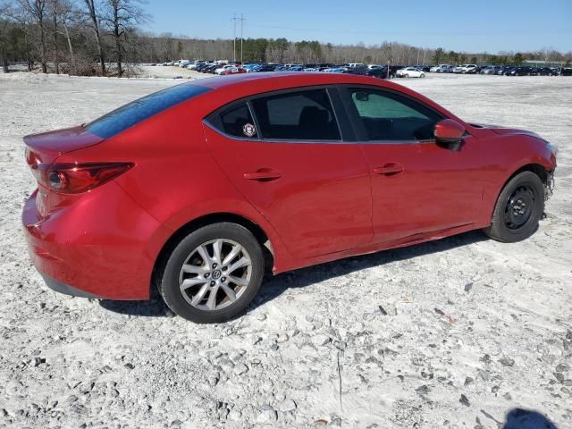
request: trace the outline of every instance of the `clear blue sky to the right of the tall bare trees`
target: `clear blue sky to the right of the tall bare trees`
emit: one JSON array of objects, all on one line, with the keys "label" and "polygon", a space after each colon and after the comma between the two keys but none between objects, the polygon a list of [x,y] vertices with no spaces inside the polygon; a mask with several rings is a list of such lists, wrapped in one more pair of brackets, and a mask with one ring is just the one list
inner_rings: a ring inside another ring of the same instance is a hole
[{"label": "clear blue sky to the right of the tall bare trees", "polygon": [[191,38],[384,40],[467,52],[572,51],[572,0],[148,0],[148,29]]}]

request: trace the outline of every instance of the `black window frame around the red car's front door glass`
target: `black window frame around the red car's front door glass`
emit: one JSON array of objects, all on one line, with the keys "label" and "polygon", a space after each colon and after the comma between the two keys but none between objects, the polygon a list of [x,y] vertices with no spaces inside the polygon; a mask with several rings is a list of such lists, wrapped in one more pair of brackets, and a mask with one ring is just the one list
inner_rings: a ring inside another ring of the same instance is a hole
[{"label": "black window frame around the red car's front door glass", "polygon": [[344,83],[338,85],[340,90],[341,100],[345,108],[345,112],[349,117],[349,123],[353,127],[354,133],[357,136],[357,142],[362,145],[411,145],[411,144],[434,144],[436,142],[435,139],[386,139],[386,140],[370,140],[367,137],[367,131],[364,127],[363,123],[361,122],[360,116],[357,114],[357,107],[351,100],[349,96],[349,88],[364,88],[370,89],[373,91],[391,94],[393,96],[402,97],[407,99],[408,101],[412,102],[413,104],[420,105],[422,108],[432,112],[436,116],[438,116],[439,121],[443,119],[448,119],[448,116],[445,116],[441,112],[437,111],[433,107],[429,105],[425,105],[422,101],[418,100],[416,97],[411,97],[408,94],[404,94],[400,91],[391,89],[391,88],[383,88],[377,87],[372,85],[364,85],[364,84],[351,84],[351,83]]}]

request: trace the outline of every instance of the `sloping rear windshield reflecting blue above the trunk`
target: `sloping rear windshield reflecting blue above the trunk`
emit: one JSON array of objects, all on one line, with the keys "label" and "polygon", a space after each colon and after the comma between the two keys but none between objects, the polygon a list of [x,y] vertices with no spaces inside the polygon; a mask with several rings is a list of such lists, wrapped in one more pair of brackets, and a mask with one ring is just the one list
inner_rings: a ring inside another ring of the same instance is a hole
[{"label": "sloping rear windshield reflecting blue above the trunk", "polygon": [[89,122],[86,125],[86,130],[103,139],[109,139],[115,134],[122,132],[122,130],[127,130],[173,105],[178,105],[209,90],[210,88],[198,85],[178,85],[166,88],[132,101],[128,105],[123,105],[113,112],[96,119],[94,122]]}]

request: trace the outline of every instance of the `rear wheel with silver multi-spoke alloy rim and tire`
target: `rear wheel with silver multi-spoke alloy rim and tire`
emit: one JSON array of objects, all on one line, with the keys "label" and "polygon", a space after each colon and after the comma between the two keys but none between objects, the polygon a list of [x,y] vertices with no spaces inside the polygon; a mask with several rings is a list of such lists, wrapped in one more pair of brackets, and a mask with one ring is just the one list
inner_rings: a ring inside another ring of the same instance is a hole
[{"label": "rear wheel with silver multi-spoke alloy rim and tire", "polygon": [[262,248],[236,223],[189,233],[164,265],[159,290],[176,315],[198,324],[225,322],[257,295],[265,271]]}]

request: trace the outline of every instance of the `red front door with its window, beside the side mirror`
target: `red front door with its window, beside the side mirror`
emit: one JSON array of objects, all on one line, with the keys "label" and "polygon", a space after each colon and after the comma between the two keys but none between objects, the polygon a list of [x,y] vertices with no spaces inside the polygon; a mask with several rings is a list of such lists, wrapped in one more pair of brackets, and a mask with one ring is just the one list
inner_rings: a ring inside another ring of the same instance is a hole
[{"label": "red front door with its window, beside the side mirror", "polygon": [[452,151],[433,139],[442,115],[428,106],[381,88],[341,92],[371,173],[375,242],[477,220],[486,165],[475,138]]}]

